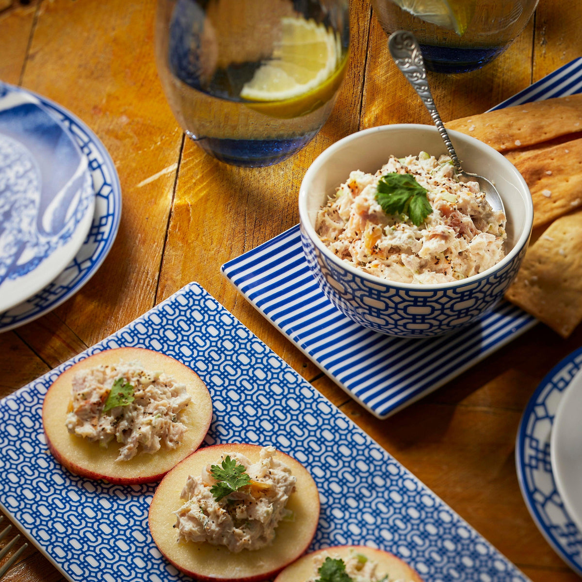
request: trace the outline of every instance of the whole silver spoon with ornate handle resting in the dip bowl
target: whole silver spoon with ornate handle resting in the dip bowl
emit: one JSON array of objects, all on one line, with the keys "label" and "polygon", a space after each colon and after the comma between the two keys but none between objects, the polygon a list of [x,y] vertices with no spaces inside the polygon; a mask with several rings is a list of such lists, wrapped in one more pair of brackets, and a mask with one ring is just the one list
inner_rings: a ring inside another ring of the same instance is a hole
[{"label": "whole silver spoon with ornate handle resting in the dip bowl", "polygon": [[388,39],[388,48],[390,49],[390,54],[394,62],[402,71],[406,80],[413,86],[418,97],[423,101],[424,107],[431,114],[431,118],[437,126],[438,132],[441,134],[446,148],[449,151],[450,159],[452,159],[453,165],[455,165],[457,178],[463,182],[477,182],[479,189],[485,193],[485,200],[488,201],[491,208],[495,211],[501,210],[505,214],[503,201],[495,186],[487,178],[471,172],[465,172],[461,167],[461,162],[457,157],[455,148],[453,148],[449,134],[446,133],[445,125],[442,122],[441,116],[438,114],[437,106],[432,99],[431,90],[428,87],[427,70],[424,68],[423,55],[420,52],[420,47],[414,35],[407,30],[397,30]]}]

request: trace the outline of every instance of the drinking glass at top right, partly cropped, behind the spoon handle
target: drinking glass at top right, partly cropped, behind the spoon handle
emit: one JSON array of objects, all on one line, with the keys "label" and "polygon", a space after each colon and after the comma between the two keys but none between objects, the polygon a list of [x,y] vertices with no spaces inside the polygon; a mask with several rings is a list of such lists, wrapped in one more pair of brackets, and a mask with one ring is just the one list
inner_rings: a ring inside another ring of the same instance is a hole
[{"label": "drinking glass at top right, partly cropped, behind the spoon handle", "polygon": [[396,30],[409,30],[420,44],[427,69],[439,73],[478,69],[501,55],[526,27],[537,3],[538,0],[456,0],[457,5],[464,4],[463,10],[468,10],[466,29],[456,32],[450,24],[445,27],[427,22],[431,15],[425,15],[423,20],[424,10],[428,12],[435,4],[442,8],[454,6],[452,0],[372,0],[385,33],[390,36]]}]

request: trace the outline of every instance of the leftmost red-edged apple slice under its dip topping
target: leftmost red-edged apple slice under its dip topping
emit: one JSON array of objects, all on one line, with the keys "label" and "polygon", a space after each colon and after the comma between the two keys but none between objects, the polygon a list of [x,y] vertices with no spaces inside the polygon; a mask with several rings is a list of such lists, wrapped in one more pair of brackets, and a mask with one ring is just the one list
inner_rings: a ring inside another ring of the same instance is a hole
[{"label": "leftmost red-edged apple slice under its dip topping", "polygon": [[[65,418],[72,399],[74,375],[87,368],[101,364],[116,365],[120,361],[139,362],[144,370],[163,371],[174,381],[186,385],[192,400],[180,413],[180,421],[188,430],[178,448],[169,449],[162,445],[153,454],[141,452],[133,459],[116,461],[122,446],[120,443],[112,441],[104,448],[67,430]],[[159,481],[176,463],[200,446],[211,419],[210,394],[196,372],[178,360],[141,347],[104,350],[72,365],[52,383],[42,405],[47,445],[55,459],[71,473],[122,485]]]}]

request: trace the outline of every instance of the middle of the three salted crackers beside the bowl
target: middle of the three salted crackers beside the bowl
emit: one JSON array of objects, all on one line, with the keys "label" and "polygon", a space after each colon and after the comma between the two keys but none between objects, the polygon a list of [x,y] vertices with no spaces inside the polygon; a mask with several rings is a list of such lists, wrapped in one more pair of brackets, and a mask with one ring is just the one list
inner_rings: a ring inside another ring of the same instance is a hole
[{"label": "middle of the three salted crackers beside the bowl", "polygon": [[530,188],[534,228],[582,206],[582,138],[524,153],[513,163]]}]

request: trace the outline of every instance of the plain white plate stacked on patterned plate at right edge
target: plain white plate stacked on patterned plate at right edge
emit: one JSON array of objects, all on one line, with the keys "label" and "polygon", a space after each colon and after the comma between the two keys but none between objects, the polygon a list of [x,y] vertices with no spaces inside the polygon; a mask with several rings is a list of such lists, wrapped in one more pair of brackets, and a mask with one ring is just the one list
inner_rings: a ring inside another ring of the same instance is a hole
[{"label": "plain white plate stacked on patterned plate at right edge", "polygon": [[582,530],[582,372],[570,382],[553,419],[550,458],[562,502]]}]

